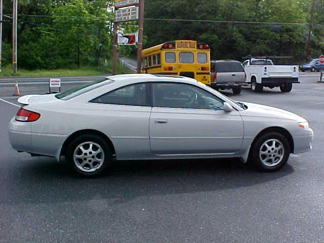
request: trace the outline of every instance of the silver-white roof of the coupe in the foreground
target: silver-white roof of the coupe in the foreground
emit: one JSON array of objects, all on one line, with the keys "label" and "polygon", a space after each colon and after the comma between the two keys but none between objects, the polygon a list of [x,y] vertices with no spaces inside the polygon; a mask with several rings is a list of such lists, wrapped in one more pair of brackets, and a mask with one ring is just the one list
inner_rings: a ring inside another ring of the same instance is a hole
[{"label": "silver-white roof of the coupe in the foreground", "polygon": [[106,78],[110,80],[114,80],[118,83],[129,83],[130,78],[132,79],[132,83],[139,82],[180,82],[180,83],[189,83],[196,84],[197,80],[184,77],[184,76],[172,76],[172,75],[159,75],[159,74],[141,74],[141,73],[131,73],[131,74],[119,74],[107,76]]}]

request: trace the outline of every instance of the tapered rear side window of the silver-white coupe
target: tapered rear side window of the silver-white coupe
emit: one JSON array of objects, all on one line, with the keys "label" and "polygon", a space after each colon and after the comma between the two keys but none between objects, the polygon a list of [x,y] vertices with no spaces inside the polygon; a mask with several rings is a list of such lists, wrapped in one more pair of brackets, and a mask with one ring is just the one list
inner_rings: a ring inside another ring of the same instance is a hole
[{"label": "tapered rear side window of the silver-white coupe", "polygon": [[90,103],[150,106],[149,84],[128,85],[103,94]]}]

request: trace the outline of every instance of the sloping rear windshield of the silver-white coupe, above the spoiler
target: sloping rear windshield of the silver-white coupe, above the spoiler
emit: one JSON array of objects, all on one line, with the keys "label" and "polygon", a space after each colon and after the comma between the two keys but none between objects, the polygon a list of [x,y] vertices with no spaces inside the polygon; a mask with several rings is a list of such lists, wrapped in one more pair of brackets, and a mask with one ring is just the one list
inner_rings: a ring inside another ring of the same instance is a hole
[{"label": "sloping rear windshield of the silver-white coupe, above the spoiler", "polygon": [[105,77],[105,78],[101,78],[99,80],[96,80],[94,82],[90,82],[90,83],[87,83],[85,85],[80,85],[80,86],[75,87],[73,89],[64,91],[64,92],[62,92],[60,94],[55,95],[55,97],[57,99],[61,99],[61,100],[69,100],[69,99],[72,99],[72,98],[74,98],[74,97],[76,97],[78,95],[84,94],[84,93],[86,93],[88,91],[97,89],[98,87],[103,85],[102,83],[104,81],[107,81],[106,84],[113,83],[113,80],[107,79]]}]

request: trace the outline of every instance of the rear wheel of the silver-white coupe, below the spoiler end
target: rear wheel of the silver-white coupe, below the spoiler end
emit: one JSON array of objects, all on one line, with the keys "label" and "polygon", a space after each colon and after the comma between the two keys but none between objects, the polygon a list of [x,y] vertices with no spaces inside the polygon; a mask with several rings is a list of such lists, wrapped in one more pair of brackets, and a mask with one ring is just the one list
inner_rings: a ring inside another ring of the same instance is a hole
[{"label": "rear wheel of the silver-white coupe, below the spoiler end", "polygon": [[66,160],[77,174],[94,177],[113,163],[113,156],[102,137],[90,134],[72,140],[66,149]]}]

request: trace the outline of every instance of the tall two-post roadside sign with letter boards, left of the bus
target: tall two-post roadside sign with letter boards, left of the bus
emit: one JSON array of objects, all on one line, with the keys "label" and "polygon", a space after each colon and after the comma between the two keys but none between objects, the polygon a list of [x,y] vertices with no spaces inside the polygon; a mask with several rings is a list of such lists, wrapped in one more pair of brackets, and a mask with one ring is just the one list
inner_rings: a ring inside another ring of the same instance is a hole
[{"label": "tall two-post roadside sign with letter boards, left of the bus", "polygon": [[[116,74],[116,62],[117,62],[117,44],[118,44],[118,34],[117,34],[117,24],[125,21],[139,20],[138,23],[138,34],[125,34],[128,36],[120,38],[119,45],[138,45],[137,49],[137,72],[141,72],[141,54],[142,54],[142,39],[143,39],[143,25],[144,25],[144,0],[115,0],[115,15],[114,15],[114,38],[113,38],[113,50],[112,50],[112,73]],[[129,39],[125,43],[126,38]]]}]

